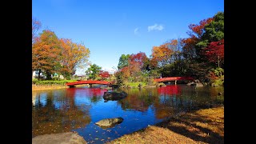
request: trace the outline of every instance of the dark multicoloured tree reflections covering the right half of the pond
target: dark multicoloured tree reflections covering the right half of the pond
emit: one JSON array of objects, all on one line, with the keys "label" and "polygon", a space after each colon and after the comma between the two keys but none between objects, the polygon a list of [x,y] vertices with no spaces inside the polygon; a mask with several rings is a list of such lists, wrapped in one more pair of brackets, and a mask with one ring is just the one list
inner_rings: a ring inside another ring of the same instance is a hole
[{"label": "dark multicoloured tree reflections covering the right half of the pond", "polygon": [[[210,89],[210,90],[209,90]],[[213,90],[211,90],[213,89]],[[149,106],[154,109],[155,117],[167,118],[182,111],[210,108],[220,102],[216,97],[218,90],[204,86],[195,88],[186,85],[169,85],[152,89],[124,89],[128,96],[120,101],[122,110],[131,109],[146,112]]]}]

